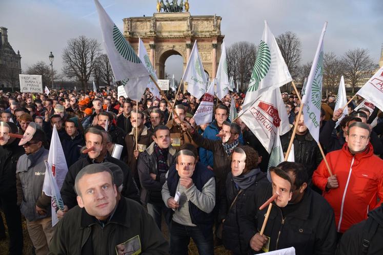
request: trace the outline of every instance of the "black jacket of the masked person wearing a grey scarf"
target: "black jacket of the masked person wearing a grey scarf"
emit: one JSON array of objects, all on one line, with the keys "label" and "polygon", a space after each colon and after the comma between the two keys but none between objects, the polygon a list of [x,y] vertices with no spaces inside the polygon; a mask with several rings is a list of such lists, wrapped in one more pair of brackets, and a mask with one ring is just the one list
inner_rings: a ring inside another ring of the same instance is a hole
[{"label": "black jacket of the masked person wearing a grey scarf", "polygon": [[[241,231],[239,228],[239,215],[245,207],[246,198],[255,193],[255,187],[258,183],[269,182],[266,178],[266,173],[260,172],[259,168],[254,170],[259,171],[259,173],[256,176],[255,182],[247,189],[237,188],[233,181],[233,175],[230,172],[226,178],[226,192],[224,192],[220,200],[218,220],[219,222],[225,220],[223,223],[222,241],[225,248],[231,250],[234,254],[248,254],[249,251],[249,245],[240,237]],[[238,192],[240,194],[233,204]]]}]

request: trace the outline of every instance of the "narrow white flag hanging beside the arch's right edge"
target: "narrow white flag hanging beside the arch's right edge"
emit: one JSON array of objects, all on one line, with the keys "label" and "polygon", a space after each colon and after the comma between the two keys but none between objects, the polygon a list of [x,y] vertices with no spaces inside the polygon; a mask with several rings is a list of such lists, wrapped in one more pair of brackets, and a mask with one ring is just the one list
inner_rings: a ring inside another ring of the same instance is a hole
[{"label": "narrow white flag hanging beside the arch's right edge", "polygon": [[226,61],[226,47],[225,41],[221,44],[221,58],[219,59],[217,69],[217,97],[222,100],[228,93],[230,88],[229,76],[228,76],[228,63]]}]

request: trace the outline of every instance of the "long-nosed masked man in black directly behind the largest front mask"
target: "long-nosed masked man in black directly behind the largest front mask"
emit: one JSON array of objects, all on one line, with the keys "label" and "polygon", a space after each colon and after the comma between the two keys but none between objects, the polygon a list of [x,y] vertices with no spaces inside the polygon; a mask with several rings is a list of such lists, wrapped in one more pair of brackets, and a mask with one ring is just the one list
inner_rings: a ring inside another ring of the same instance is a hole
[{"label": "long-nosed masked man in black directly behind the largest front mask", "polygon": [[79,159],[71,167],[65,176],[63,186],[61,188],[61,196],[64,202],[64,211],[58,210],[57,216],[63,217],[68,209],[77,205],[76,194],[74,190],[74,180],[82,168],[90,164],[98,164],[110,162],[118,165],[124,172],[124,189],[122,195],[134,200],[138,200],[138,189],[136,188],[129,167],[121,160],[115,159],[108,154],[111,141],[110,136],[105,131],[101,131],[95,127],[88,128],[85,131],[86,148],[91,149],[87,157]]}]

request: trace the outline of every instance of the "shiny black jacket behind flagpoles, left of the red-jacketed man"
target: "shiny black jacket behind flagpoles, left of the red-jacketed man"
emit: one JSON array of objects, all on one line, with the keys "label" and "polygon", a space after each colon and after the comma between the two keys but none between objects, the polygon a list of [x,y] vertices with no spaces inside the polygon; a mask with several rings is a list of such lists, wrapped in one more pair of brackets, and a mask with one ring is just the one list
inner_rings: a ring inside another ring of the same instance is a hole
[{"label": "shiny black jacket behind flagpoles, left of the red-jacketed man", "polygon": [[[282,148],[285,153],[287,151],[287,148],[289,147],[289,142],[292,134],[293,131],[290,130],[288,133],[280,137],[280,142],[282,143]],[[320,154],[318,144],[310,135],[308,130],[306,135],[295,135],[293,143],[295,162],[301,163],[306,167],[311,183],[311,177],[315,169],[318,167],[318,165],[323,159],[322,155]]]}]

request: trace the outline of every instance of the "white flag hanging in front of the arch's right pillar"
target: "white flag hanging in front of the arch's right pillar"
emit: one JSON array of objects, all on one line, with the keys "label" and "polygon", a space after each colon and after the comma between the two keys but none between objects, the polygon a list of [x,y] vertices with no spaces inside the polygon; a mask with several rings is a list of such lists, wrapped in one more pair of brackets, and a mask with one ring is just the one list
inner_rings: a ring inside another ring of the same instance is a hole
[{"label": "white flag hanging in front of the arch's right pillar", "polygon": [[[196,97],[200,98],[206,92],[206,74],[204,67],[202,66],[201,58],[199,57],[197,40],[194,42],[193,49],[190,53],[188,64],[186,65],[185,73],[182,78],[184,82],[188,82],[188,92]],[[214,88],[213,88],[214,95]]]}]

